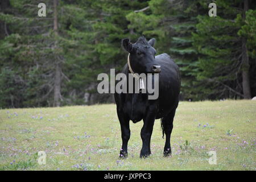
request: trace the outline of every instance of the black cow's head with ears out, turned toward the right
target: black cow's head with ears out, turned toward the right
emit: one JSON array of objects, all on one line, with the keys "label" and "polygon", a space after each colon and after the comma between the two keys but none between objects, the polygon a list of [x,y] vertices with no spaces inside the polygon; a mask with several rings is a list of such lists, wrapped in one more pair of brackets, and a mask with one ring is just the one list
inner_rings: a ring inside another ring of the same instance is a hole
[{"label": "black cow's head with ears out, turned toward the right", "polygon": [[160,65],[155,60],[155,39],[148,42],[140,37],[136,43],[131,43],[130,39],[123,39],[122,46],[130,53],[130,66],[135,73],[160,73]]}]

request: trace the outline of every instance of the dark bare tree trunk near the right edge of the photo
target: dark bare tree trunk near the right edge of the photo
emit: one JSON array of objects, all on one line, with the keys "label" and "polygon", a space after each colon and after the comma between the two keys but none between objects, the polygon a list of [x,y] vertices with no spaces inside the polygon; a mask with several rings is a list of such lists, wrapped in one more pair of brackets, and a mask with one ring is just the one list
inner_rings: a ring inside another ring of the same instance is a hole
[{"label": "dark bare tree trunk near the right edge of the photo", "polygon": [[[248,10],[248,0],[243,2],[243,19],[245,19],[245,12]],[[246,38],[242,38],[242,86],[243,86],[243,97],[245,99],[251,98],[250,89],[250,76],[249,76],[249,57],[246,47]]]}]

